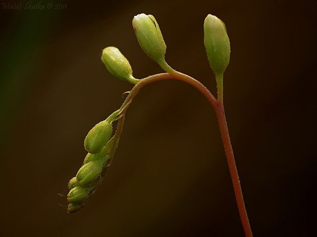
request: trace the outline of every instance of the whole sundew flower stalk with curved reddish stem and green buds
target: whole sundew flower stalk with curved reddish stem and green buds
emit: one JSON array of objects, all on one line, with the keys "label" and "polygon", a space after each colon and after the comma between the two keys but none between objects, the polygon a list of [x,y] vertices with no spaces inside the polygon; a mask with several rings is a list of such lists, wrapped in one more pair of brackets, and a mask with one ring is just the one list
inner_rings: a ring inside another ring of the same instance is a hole
[{"label": "whole sundew flower stalk with curved reddish stem and green buds", "polygon": [[[183,81],[196,88],[214,108],[244,233],[246,237],[253,236],[245,209],[223,106],[223,73],[230,60],[230,41],[224,23],[216,16],[209,14],[203,24],[207,58],[217,83],[217,98],[193,77],[178,72],[168,65],[165,61],[166,44],[154,16],[143,13],[134,16],[132,25],[145,54],[159,64],[166,73],[154,74],[142,79],[134,78],[128,60],[118,48],[110,46],[102,50],[101,60],[107,70],[118,80],[129,82],[134,86],[128,92],[122,106],[88,132],[84,140],[84,147],[88,153],[76,176],[69,181],[70,192],[67,195],[69,202],[67,212],[77,212],[100,185],[102,177],[114,159],[123,129],[125,113],[140,89],[153,82],[173,79]],[[116,130],[113,131],[112,124],[115,121],[118,123]]]}]

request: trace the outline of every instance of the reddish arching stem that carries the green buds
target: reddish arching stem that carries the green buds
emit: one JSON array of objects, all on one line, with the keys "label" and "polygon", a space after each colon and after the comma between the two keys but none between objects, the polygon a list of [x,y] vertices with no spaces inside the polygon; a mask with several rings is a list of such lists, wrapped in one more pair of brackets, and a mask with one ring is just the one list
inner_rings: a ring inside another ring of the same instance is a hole
[{"label": "reddish arching stem that carries the green buds", "polygon": [[[223,147],[225,151],[225,155],[227,157],[227,162],[230,170],[230,175],[233,183],[233,188],[234,188],[234,193],[236,196],[236,201],[237,201],[237,206],[239,210],[239,215],[241,218],[243,230],[245,233],[246,237],[253,237],[252,230],[250,223],[248,221],[245,205],[244,205],[244,200],[243,200],[243,195],[242,195],[242,189],[240,185],[240,179],[238,175],[238,171],[236,168],[236,162],[234,159],[234,154],[233,154],[233,149],[230,141],[230,136],[229,136],[229,130],[227,126],[227,120],[225,118],[225,113],[224,113],[224,107],[223,107],[223,87],[222,87],[222,77],[221,80],[217,80],[217,89],[218,89],[218,99],[216,99],[213,94],[200,82],[195,80],[193,77],[190,77],[186,74],[173,71],[171,73],[160,73],[160,74],[155,74],[148,76],[140,82],[138,82],[130,91],[129,95],[125,99],[125,101],[122,104],[121,110],[123,113],[128,109],[132,99],[134,98],[135,95],[138,94],[140,89],[150,83],[157,82],[157,81],[162,81],[162,80],[179,80],[183,81],[185,83],[190,84],[197,90],[199,90],[207,99],[208,101],[212,104],[213,108],[215,109],[217,119],[218,119],[218,124],[220,128],[220,134],[223,142]],[[123,120],[119,120],[118,126],[122,126]]]}]

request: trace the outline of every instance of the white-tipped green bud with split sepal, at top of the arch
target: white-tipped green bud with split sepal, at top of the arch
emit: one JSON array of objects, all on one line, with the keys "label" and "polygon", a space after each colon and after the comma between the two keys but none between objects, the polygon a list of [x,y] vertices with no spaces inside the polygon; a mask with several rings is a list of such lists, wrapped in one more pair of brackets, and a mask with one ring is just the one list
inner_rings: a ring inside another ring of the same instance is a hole
[{"label": "white-tipped green bud with split sepal, at top of the arch", "polygon": [[145,54],[157,63],[162,62],[165,57],[166,44],[154,16],[144,13],[134,16],[132,25]]}]

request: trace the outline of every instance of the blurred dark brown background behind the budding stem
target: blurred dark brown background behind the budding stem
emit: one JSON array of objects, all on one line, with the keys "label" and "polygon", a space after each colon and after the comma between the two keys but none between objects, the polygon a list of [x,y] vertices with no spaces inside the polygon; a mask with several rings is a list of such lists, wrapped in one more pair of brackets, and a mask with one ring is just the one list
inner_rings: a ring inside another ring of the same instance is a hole
[{"label": "blurred dark brown background behind the budding stem", "polygon": [[132,88],[101,50],[118,47],[137,78],[163,72],[135,38],[139,13],[159,22],[167,62],[214,94],[203,21],[225,22],[224,103],[254,236],[312,236],[317,2],[282,0],[1,2],[0,236],[244,236],[213,108],[178,81],[140,91],[102,185],[66,213],[87,132]]}]

